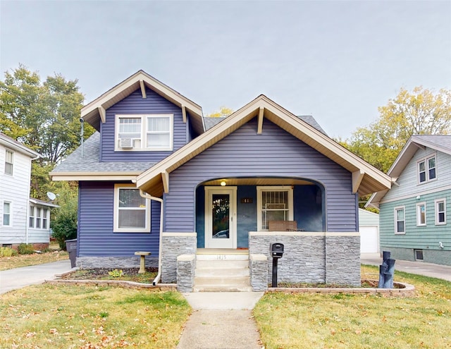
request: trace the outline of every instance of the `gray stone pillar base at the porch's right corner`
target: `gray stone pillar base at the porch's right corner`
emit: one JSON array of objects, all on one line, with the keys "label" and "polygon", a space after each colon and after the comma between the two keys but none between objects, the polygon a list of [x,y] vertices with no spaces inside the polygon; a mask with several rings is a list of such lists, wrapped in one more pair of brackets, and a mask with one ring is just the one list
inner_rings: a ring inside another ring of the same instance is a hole
[{"label": "gray stone pillar base at the porch's right corner", "polygon": [[359,235],[326,235],[326,283],[361,285]]}]

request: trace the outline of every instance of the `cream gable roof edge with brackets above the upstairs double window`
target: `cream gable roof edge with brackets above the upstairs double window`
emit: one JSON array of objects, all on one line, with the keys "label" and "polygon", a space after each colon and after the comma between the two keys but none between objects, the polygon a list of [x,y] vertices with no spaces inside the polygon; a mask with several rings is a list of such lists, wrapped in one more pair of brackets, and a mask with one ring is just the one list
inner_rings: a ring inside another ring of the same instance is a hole
[{"label": "cream gable roof edge with brackets above the upstairs double window", "polygon": [[99,131],[100,123],[105,122],[106,109],[109,109],[110,106],[120,102],[138,89],[141,90],[142,98],[147,98],[145,87],[173,102],[173,104],[180,106],[184,121],[186,120],[186,111],[189,111],[192,116],[191,122],[194,130],[198,134],[204,132],[202,108],[144,71],[137,71],[137,73],[123,80],[123,82],[94,99],[94,101],[83,106],[81,117]]}]

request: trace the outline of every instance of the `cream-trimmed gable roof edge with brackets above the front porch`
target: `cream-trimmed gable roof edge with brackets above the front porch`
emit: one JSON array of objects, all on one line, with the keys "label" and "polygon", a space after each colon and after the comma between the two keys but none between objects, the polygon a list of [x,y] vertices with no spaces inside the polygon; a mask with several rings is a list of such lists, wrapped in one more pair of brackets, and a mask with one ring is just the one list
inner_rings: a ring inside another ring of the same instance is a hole
[{"label": "cream-trimmed gable roof edge with brackets above the front porch", "polygon": [[199,135],[199,137],[194,138],[190,143],[178,149],[177,152],[141,173],[140,176],[137,176],[137,186],[154,196],[161,195],[163,191],[168,192],[168,173],[178,169],[178,167],[230,133],[233,133],[233,131],[254,117],[257,117],[257,133],[262,132],[263,120],[267,118],[268,121],[275,123],[283,130],[350,171],[352,173],[352,192],[359,192],[359,195],[367,195],[371,192],[390,188],[391,178],[389,176],[366,163],[366,161],[360,159],[312,125],[309,125],[309,123],[283,109],[283,107],[263,94],[227,118],[224,118],[223,121],[214,125],[205,133]]}]

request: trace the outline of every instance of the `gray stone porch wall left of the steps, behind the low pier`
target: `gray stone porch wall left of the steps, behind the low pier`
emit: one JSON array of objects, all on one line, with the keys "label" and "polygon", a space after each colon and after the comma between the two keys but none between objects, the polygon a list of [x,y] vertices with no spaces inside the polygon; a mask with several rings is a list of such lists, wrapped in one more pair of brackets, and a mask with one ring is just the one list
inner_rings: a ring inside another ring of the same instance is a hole
[{"label": "gray stone porch wall left of the steps, behind the low pier", "polygon": [[196,233],[163,233],[161,251],[161,282],[177,282],[177,257],[195,255]]}]

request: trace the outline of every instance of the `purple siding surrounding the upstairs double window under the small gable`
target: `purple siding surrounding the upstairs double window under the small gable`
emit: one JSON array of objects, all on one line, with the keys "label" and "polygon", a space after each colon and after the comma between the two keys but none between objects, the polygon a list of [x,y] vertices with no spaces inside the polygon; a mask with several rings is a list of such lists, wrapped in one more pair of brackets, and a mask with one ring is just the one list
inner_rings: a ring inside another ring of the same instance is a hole
[{"label": "purple siding surrounding the upstairs double window under the small gable", "polygon": [[116,114],[174,114],[173,151],[190,141],[190,127],[188,123],[183,123],[182,109],[152,90],[146,89],[146,92],[145,99],[142,98],[141,90],[137,90],[106,110],[106,123],[101,124],[101,161],[158,162],[172,153],[114,152]]}]

